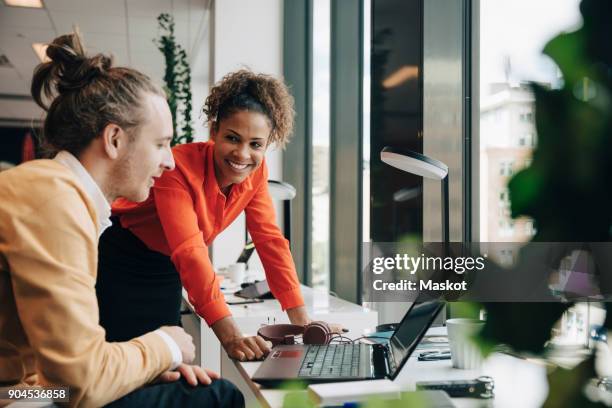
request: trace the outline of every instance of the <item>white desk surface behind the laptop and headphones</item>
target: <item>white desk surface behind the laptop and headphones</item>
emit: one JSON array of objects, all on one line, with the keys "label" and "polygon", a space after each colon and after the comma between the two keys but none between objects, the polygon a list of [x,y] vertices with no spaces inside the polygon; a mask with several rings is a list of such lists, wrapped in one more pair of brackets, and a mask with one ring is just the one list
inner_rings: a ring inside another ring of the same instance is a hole
[{"label": "white desk surface behind the laptop and headphones", "polygon": [[[355,337],[365,334],[364,328],[373,329],[378,324],[376,311],[331,296],[327,292],[302,286],[302,295],[311,319],[340,323]],[[183,297],[186,298],[185,294]],[[226,295],[227,300],[231,298],[231,295]],[[265,300],[263,303],[233,305],[229,308],[244,334],[255,335],[262,324],[289,323],[287,313],[282,311],[276,299]],[[197,346],[195,361],[199,361],[202,367],[220,372],[226,377],[221,356],[227,358],[227,355],[212,329],[196,314],[184,316],[183,326],[194,337]]]}]

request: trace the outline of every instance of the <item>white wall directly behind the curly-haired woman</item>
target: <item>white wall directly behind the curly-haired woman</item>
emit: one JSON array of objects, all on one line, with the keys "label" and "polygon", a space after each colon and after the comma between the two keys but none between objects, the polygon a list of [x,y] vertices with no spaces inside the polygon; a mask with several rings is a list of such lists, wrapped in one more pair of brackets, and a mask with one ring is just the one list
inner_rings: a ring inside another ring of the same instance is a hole
[{"label": "white wall directly behind the curly-haired woman", "polygon": [[[212,12],[213,82],[240,68],[276,77],[283,74],[283,1],[216,0]],[[270,178],[282,180],[282,152],[266,154]],[[221,233],[212,248],[215,267],[236,261],[244,245],[244,216]],[[261,268],[258,259],[250,267]]]}]

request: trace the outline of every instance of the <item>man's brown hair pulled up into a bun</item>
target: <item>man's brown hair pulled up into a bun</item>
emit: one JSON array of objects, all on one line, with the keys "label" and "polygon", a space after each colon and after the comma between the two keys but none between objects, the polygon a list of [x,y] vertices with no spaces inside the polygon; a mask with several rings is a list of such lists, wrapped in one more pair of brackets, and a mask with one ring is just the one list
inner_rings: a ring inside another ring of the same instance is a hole
[{"label": "man's brown hair pulled up into a bun", "polygon": [[57,37],[49,60],[32,78],[32,98],[47,115],[42,143],[49,151],[78,155],[109,123],[133,134],[146,119],[144,93],[165,98],[145,74],[114,67],[104,54],[87,56],[78,33]]}]

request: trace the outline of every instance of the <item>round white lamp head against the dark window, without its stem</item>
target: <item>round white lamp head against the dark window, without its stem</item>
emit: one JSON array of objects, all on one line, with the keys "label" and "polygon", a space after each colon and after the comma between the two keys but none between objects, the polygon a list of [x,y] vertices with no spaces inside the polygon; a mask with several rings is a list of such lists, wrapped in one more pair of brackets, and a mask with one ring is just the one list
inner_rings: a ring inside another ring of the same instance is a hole
[{"label": "round white lamp head against the dark window, without its stem", "polygon": [[446,164],[407,149],[385,147],[380,159],[397,169],[433,180],[442,180],[448,175]]}]

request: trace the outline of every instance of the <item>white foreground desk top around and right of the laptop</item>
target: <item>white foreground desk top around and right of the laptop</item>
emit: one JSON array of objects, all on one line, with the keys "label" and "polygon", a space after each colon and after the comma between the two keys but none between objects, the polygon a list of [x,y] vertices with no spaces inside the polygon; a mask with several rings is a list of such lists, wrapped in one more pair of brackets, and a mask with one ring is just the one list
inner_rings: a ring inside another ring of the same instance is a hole
[{"label": "white foreground desk top around and right of the laptop", "polygon": [[[428,334],[444,334],[445,328],[430,329]],[[282,407],[286,391],[260,389],[250,378],[260,362],[236,362],[224,356],[222,366],[226,378],[234,382],[245,395],[247,407]],[[493,354],[478,370],[459,370],[450,360],[418,361],[410,357],[395,383],[404,391],[414,391],[417,381],[466,380],[489,375],[495,380],[495,398],[481,400],[454,398],[459,408],[468,407],[540,407],[548,394],[546,367],[542,363],[522,360],[505,354]],[[338,383],[341,387],[342,383]]]}]

